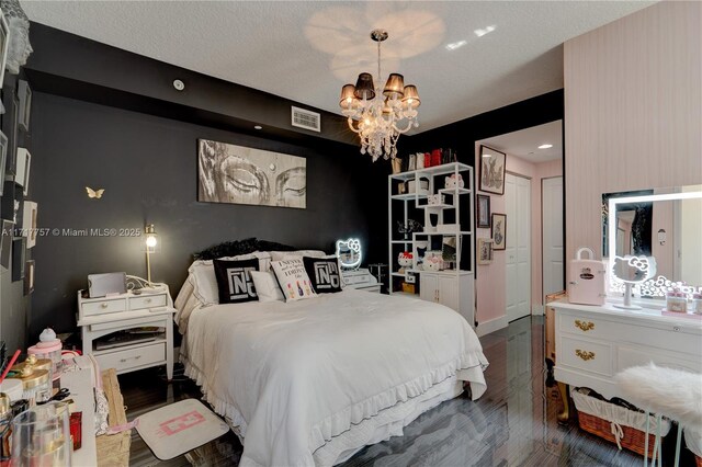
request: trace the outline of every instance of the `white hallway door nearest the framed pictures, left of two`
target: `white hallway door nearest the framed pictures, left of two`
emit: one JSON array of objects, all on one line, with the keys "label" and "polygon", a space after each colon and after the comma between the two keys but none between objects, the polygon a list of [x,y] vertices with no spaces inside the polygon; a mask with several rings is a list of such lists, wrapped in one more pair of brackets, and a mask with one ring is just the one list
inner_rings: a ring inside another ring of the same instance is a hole
[{"label": "white hallway door nearest the framed pictures, left of two", "polygon": [[531,180],[505,180],[507,319],[531,315]]}]

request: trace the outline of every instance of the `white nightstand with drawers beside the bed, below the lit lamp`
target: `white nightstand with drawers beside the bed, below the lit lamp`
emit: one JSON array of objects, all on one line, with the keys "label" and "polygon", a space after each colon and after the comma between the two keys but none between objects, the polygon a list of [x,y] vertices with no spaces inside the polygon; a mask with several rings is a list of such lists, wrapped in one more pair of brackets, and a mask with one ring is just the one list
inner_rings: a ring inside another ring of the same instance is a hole
[{"label": "white nightstand with drawers beside the bed, below the lit lamp", "polygon": [[[83,353],[92,354],[101,369],[115,368],[117,374],[166,365],[168,380],[173,377],[173,314],[171,297],[165,284],[100,298],[87,298],[78,291],[78,326]],[[139,333],[144,328],[161,328],[162,332]],[[107,334],[133,331],[128,339],[104,342]]]}]

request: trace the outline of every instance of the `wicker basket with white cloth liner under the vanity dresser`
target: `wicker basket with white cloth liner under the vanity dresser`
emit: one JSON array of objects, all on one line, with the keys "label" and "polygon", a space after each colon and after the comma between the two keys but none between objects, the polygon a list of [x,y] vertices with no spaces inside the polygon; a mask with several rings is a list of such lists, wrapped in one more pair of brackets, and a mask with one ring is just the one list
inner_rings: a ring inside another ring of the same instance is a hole
[{"label": "wicker basket with white cloth liner under the vanity dresser", "polygon": [[[646,445],[646,414],[616,406],[607,400],[600,400],[589,396],[588,389],[575,389],[571,392],[576,410],[578,411],[578,424],[588,433],[592,433],[612,443],[616,437],[612,433],[612,420],[622,430],[619,442],[622,447],[644,455]],[[653,457],[654,443],[656,441],[656,418],[649,415],[650,433],[648,434],[648,457]],[[670,422],[663,420],[661,436],[670,431]],[[702,467],[702,466],[699,466]]]}]

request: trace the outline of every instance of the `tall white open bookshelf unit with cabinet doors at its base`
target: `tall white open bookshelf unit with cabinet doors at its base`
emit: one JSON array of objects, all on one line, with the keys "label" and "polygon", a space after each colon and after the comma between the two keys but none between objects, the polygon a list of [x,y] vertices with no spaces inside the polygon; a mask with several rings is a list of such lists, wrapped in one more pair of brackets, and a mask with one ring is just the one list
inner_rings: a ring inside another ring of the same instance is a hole
[{"label": "tall white open bookshelf unit with cabinet doors at its base", "polygon": [[[461,175],[464,185],[445,187],[445,179],[451,175]],[[393,173],[387,186],[388,292],[446,305],[475,326],[473,168],[451,162]],[[421,224],[421,231],[399,232],[398,223],[407,226],[410,219]],[[453,248],[455,259],[450,261]],[[412,264],[400,271],[397,258],[405,251],[412,253]],[[426,266],[431,255],[442,258],[442,270],[430,271]]]}]

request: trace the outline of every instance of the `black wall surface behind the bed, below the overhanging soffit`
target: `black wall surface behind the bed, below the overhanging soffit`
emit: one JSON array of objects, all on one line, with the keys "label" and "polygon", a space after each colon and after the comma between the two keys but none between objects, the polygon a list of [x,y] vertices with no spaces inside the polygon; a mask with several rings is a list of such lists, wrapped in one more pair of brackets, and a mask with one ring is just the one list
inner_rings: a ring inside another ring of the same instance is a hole
[{"label": "black wall surface behind the bed, below the overhanging soffit", "polygon": [[[173,297],[191,254],[222,241],[257,237],[326,251],[348,236],[371,241],[365,206],[374,200],[363,181],[388,168],[372,166],[356,147],[281,143],[39,92],[33,118],[33,193],[39,227],[52,232],[34,248],[31,337],[45,326],[73,329],[76,292],[88,274],[146,276],[144,239],[128,232],[145,224],[156,226],[160,240],[152,278],[166,282]],[[305,157],[307,208],[199,203],[197,138]],[[86,186],[105,191],[90,198]],[[83,229],[117,235],[83,236]]]}]

